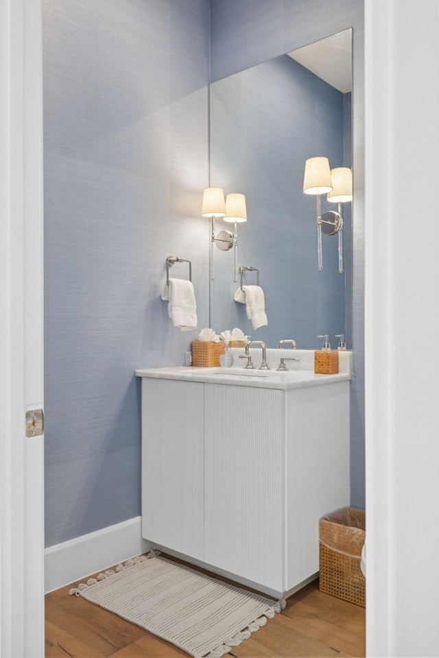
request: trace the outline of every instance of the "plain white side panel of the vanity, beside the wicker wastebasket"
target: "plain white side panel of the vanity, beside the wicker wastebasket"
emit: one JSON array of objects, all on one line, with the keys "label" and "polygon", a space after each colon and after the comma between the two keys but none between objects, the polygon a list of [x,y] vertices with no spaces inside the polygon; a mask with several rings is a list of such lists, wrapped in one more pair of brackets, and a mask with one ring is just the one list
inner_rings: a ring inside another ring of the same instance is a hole
[{"label": "plain white side panel of the vanity, beside the wicker wastebasket", "polygon": [[287,391],[285,590],[319,570],[318,521],[349,504],[349,382]]}]

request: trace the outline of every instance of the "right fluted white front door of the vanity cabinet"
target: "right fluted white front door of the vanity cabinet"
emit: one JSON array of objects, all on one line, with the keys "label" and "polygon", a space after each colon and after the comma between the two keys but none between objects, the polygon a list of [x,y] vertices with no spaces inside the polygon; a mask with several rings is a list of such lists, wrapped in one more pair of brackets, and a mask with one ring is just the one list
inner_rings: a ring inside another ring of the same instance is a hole
[{"label": "right fluted white front door of the vanity cabinet", "polygon": [[204,560],[283,589],[284,391],[204,387]]}]

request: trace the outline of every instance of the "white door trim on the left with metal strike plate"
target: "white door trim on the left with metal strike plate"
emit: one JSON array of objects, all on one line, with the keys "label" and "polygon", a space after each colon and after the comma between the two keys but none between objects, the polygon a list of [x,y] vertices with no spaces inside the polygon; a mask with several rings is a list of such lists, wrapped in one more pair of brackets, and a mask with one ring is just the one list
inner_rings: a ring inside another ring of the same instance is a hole
[{"label": "white door trim on the left with metal strike plate", "polygon": [[0,2],[0,655],[44,655],[43,47],[40,0]]}]

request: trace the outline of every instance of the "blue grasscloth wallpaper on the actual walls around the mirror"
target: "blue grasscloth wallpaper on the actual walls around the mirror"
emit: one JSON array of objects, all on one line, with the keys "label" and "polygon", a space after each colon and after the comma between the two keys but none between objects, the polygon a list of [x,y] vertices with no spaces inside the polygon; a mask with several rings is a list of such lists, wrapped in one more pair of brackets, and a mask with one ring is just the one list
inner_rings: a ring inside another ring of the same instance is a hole
[{"label": "blue grasscloth wallpaper on the actual walls around the mirror", "polygon": [[[198,328],[209,324],[209,234],[200,219],[209,180],[209,49],[213,80],[346,27],[357,29],[361,52],[360,6],[349,0],[44,0],[47,546],[140,514],[134,370],[182,364],[198,333],[180,332],[167,317],[160,299],[167,256],[192,261]],[[358,116],[361,84],[359,77]],[[360,128],[354,119],[358,208]],[[361,506],[362,220],[356,208],[352,502]]]}]

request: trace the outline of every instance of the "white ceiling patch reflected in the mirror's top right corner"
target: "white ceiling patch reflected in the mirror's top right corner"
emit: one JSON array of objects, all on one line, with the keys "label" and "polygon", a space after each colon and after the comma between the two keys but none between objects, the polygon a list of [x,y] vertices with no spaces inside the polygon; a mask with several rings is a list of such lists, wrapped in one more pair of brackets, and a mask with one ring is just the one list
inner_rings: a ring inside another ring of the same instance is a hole
[{"label": "white ceiling patch reflected in the mirror's top right corner", "polygon": [[345,29],[288,53],[342,93],[352,90],[352,30]]}]

